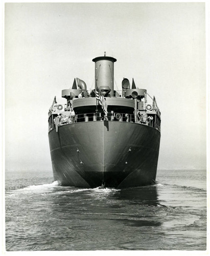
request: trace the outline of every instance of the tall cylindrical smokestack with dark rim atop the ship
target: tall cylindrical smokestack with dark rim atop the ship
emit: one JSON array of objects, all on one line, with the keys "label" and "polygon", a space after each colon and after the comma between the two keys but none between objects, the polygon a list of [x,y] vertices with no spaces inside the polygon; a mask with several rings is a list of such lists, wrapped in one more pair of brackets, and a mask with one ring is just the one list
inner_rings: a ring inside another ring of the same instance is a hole
[{"label": "tall cylindrical smokestack with dark rim atop the ship", "polygon": [[92,60],[95,62],[95,88],[96,81],[98,88],[101,90],[108,86],[112,96],[114,91],[114,62],[116,59],[105,55]]}]

